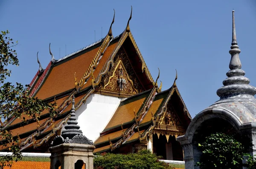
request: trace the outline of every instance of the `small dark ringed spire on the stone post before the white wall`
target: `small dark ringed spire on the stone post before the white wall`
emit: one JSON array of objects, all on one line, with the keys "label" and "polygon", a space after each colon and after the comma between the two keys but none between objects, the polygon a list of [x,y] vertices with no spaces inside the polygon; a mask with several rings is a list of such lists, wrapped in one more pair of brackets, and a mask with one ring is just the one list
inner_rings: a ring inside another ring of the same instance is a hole
[{"label": "small dark ringed spire on the stone post before the white wall", "polygon": [[75,135],[83,135],[83,132],[80,129],[80,126],[77,125],[78,122],[76,121],[76,114],[75,114],[75,96],[72,98],[72,108],[71,108],[71,117],[69,121],[67,121],[67,126],[65,126],[65,130],[62,131],[61,136],[63,138],[70,138],[72,139]]}]

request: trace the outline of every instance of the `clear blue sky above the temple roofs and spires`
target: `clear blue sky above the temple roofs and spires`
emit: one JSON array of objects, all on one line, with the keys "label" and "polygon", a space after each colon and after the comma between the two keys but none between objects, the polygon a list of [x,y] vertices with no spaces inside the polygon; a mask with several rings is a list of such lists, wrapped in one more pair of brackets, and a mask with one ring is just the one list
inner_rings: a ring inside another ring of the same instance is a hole
[{"label": "clear blue sky above the temple roofs and spires", "polygon": [[8,80],[29,84],[38,70],[37,51],[43,68],[50,62],[49,42],[59,59],[93,43],[94,31],[96,40],[105,37],[113,8],[113,35],[119,35],[131,5],[131,32],[151,75],[156,79],[160,68],[166,90],[177,69],[177,87],[192,117],[219,99],[216,90],[229,70],[233,8],[242,69],[256,86],[255,0],[1,0],[0,30],[8,29],[19,41],[15,49],[20,66],[12,67]]}]

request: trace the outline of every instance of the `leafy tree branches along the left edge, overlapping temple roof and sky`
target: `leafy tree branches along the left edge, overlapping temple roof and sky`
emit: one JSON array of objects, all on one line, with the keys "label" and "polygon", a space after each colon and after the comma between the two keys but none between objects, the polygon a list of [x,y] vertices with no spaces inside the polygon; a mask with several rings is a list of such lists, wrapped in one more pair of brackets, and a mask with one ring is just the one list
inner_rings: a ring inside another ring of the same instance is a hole
[{"label": "leafy tree branches along the left edge, overlapping temple roof and sky", "polygon": [[[2,121],[9,117],[20,118],[22,114],[39,121],[41,112],[49,110],[50,115],[55,114],[55,104],[48,104],[40,99],[29,97],[29,85],[25,87],[20,83],[13,85],[6,82],[6,78],[11,75],[10,65],[19,65],[17,53],[13,49],[18,42],[13,42],[8,37],[9,31],[1,31],[0,34],[0,148],[12,152],[10,156],[0,156],[0,168],[11,166],[12,161],[22,158],[20,153],[20,138],[12,135],[12,132],[5,129],[6,124]],[[27,119],[23,117],[25,124]]]}]

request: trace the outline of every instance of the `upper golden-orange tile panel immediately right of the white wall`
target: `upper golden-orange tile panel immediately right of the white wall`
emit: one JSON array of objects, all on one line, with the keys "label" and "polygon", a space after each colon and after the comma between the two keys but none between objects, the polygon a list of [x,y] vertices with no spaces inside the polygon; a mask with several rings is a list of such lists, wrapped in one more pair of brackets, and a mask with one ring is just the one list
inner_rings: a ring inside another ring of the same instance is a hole
[{"label": "upper golden-orange tile panel immediately right of the white wall", "polygon": [[144,93],[143,95],[133,97],[133,99],[122,101],[104,131],[132,121],[134,119],[134,109],[137,113],[146,98],[147,95]]}]

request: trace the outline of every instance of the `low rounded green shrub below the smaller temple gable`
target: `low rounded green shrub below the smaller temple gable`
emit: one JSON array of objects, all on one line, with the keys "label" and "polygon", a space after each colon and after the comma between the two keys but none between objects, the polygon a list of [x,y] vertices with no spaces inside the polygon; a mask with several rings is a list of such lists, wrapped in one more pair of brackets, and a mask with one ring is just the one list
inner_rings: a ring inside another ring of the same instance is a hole
[{"label": "low rounded green shrub below the smaller temple gable", "polygon": [[94,169],[172,169],[159,158],[146,149],[127,155],[106,153],[96,155],[93,166]]}]

